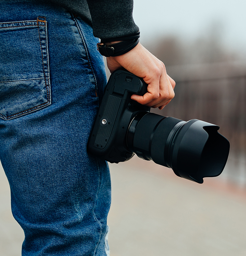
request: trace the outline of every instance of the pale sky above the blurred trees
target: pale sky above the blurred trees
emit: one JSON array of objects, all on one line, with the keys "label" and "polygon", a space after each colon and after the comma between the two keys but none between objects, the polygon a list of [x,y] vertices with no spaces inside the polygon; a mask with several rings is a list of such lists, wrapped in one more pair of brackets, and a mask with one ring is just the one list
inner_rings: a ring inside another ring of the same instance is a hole
[{"label": "pale sky above the blurred trees", "polygon": [[224,44],[246,53],[246,0],[134,0],[133,18],[143,41],[158,34],[206,36],[217,23]]}]

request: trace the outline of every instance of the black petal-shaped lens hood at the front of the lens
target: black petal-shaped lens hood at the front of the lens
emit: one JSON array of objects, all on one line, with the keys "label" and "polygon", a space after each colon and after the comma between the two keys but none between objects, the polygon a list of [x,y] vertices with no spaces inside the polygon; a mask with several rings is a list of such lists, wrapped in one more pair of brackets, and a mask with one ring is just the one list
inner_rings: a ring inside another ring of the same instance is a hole
[{"label": "black petal-shaped lens hood at the front of the lens", "polygon": [[168,138],[168,159],[176,175],[202,183],[204,177],[222,173],[230,145],[218,129],[218,125],[193,119],[184,123],[173,138]]}]

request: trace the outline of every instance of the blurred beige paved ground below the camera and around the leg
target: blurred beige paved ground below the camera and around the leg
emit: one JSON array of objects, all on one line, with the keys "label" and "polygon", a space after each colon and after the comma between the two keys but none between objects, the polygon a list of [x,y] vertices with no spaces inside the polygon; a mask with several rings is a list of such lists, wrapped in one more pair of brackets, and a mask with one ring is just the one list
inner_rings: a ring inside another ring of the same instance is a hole
[{"label": "blurred beige paved ground below the camera and around the leg", "polygon": [[[111,256],[245,256],[246,192],[218,178],[204,184],[134,157],[110,164]],[[20,256],[23,232],[0,170],[0,255]]]}]

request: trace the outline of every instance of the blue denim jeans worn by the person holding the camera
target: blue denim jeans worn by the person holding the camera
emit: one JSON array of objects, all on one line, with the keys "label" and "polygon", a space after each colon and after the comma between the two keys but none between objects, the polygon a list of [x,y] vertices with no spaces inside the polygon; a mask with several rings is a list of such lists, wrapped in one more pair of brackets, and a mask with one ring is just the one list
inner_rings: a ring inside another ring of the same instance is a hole
[{"label": "blue denim jeans worn by the person holding the camera", "polygon": [[0,159],[22,255],[109,255],[109,169],[86,151],[106,84],[98,40],[49,1],[0,10]]}]

